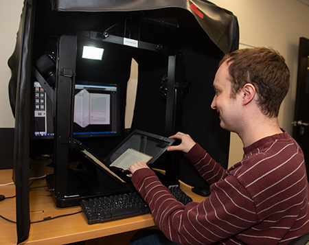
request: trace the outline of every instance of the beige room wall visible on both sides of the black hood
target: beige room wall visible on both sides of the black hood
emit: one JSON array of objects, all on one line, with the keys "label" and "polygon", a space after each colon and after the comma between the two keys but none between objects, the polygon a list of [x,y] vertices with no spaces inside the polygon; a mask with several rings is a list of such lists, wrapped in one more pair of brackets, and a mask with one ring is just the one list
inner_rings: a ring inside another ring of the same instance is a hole
[{"label": "beige room wall visible on both sides of the black hood", "polygon": [[[297,0],[212,0],[238,17],[240,43],[253,47],[277,49],[287,60],[291,71],[291,86],[279,113],[279,124],[290,134],[293,128],[297,81],[297,54],[299,37],[309,38],[309,7]],[[8,58],[14,50],[16,32],[23,0],[2,1],[0,8],[0,128],[14,127],[14,117],[8,100],[10,69]],[[229,164],[242,159],[242,143],[237,135],[231,136]]]}]

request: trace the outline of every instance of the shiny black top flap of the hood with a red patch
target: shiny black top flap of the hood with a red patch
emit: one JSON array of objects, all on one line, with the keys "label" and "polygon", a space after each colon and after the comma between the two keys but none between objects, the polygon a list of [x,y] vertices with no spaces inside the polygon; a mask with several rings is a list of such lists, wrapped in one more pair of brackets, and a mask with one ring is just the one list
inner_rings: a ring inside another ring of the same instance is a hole
[{"label": "shiny black top flap of the hood with a red patch", "polygon": [[[209,38],[225,53],[238,48],[237,17],[232,12],[203,0],[52,0],[52,9],[60,12],[128,12],[182,8],[190,11]],[[160,20],[158,20],[160,21]],[[165,21],[161,19],[163,24]]]}]

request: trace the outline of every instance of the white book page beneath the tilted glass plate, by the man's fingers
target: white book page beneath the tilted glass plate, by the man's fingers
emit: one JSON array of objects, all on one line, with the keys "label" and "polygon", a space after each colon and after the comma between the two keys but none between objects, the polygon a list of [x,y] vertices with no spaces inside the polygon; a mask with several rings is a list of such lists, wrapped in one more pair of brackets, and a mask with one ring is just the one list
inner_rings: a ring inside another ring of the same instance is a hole
[{"label": "white book page beneath the tilted glass plate, by the man's fingers", "polygon": [[127,170],[128,167],[130,167],[137,161],[143,161],[145,163],[148,163],[150,159],[152,159],[152,156],[148,156],[147,154],[129,148],[124,153],[122,153],[115,161],[113,161],[111,166]]}]

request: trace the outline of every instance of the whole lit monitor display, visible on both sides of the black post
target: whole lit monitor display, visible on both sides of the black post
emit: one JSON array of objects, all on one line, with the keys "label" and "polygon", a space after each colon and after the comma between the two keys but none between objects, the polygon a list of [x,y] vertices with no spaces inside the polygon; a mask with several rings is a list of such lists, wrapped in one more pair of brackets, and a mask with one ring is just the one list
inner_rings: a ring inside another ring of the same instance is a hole
[{"label": "whole lit monitor display, visible on both sides of the black post", "polygon": [[[117,84],[77,82],[74,94],[74,137],[119,134]],[[52,102],[39,82],[34,82],[34,135],[45,139],[54,137]]]}]

